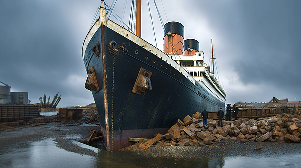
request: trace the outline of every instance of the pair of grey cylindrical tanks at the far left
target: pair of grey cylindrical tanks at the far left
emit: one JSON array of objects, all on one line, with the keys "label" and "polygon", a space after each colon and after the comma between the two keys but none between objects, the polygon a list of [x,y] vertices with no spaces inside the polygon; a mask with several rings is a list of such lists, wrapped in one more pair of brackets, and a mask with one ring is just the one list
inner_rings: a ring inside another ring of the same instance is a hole
[{"label": "pair of grey cylindrical tanks at the far left", "polygon": [[11,87],[3,82],[0,85],[0,104],[27,104],[31,101],[28,99],[28,92],[11,92]]}]

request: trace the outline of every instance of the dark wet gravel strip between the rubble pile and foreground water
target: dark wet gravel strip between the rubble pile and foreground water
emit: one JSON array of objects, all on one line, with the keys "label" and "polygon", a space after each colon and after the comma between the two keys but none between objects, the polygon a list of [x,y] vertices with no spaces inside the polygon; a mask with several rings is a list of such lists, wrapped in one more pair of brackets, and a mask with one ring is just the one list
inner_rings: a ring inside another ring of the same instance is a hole
[{"label": "dark wet gravel strip between the rubble pile and foreground water", "polygon": [[[254,150],[261,148],[260,150]],[[231,156],[275,156],[284,154],[301,154],[300,143],[278,142],[247,142],[220,141],[204,147],[194,146],[152,146],[146,150],[140,150],[132,145],[121,149],[131,151],[144,157],[167,157],[167,158],[221,158]]]}]

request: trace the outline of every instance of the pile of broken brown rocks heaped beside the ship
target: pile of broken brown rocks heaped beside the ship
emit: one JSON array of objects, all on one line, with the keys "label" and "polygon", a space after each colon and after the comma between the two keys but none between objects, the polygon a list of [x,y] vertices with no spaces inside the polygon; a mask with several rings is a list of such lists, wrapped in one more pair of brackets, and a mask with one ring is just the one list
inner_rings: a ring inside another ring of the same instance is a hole
[{"label": "pile of broken brown rocks heaped beside the ship", "polygon": [[168,133],[155,134],[149,140],[140,140],[137,145],[140,149],[155,146],[205,146],[220,140],[272,141],[294,142],[301,141],[301,116],[297,114],[278,114],[273,117],[254,119],[240,118],[231,122],[224,121],[219,127],[217,120],[208,120],[208,126],[203,125],[199,112],[190,117],[187,115],[183,121],[178,119]]}]

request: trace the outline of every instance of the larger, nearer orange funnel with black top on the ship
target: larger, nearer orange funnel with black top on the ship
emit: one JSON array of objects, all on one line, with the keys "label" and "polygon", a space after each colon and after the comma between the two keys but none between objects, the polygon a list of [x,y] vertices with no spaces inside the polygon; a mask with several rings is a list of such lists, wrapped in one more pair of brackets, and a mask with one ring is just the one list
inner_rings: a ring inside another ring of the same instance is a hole
[{"label": "larger, nearer orange funnel with black top on the ship", "polygon": [[184,55],[184,26],[179,22],[164,25],[163,52]]}]

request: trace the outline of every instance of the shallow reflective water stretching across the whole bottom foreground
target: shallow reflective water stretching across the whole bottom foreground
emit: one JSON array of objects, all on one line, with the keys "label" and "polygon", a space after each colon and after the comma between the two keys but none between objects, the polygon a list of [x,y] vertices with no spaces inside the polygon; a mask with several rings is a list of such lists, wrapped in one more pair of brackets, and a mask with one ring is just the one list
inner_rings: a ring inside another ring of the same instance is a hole
[{"label": "shallow reflective water stretching across the whole bottom foreground", "polygon": [[[69,138],[65,138],[68,140]],[[129,151],[107,152],[70,140],[96,156],[82,155],[57,147],[54,139],[22,143],[21,146],[4,151],[0,149],[0,167],[301,167],[301,155],[235,156],[223,158],[174,159],[143,157]],[[67,146],[68,148],[68,146]]]}]

